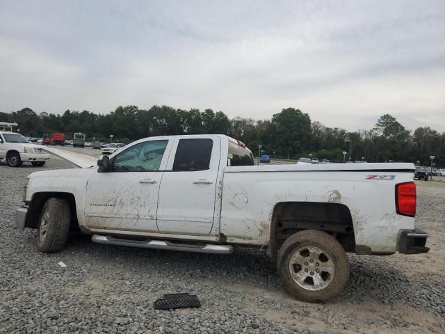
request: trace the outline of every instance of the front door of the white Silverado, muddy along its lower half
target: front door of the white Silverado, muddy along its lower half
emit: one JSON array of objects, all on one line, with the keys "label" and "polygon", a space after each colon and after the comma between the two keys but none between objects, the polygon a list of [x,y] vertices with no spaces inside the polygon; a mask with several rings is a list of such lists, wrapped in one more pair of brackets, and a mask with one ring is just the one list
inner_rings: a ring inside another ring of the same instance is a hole
[{"label": "front door of the white Silverado, muddy along its lower half", "polygon": [[159,185],[171,142],[165,139],[131,145],[111,158],[110,172],[92,174],[86,189],[88,227],[158,232]]}]

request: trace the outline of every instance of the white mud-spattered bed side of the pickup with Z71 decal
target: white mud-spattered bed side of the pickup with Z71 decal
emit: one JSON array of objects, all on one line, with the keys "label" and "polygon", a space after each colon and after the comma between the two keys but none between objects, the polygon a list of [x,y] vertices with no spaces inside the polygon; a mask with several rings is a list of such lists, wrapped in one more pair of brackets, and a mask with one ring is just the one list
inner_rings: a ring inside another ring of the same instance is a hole
[{"label": "white mud-spattered bed side of the pickup with Z71 decal", "polygon": [[264,245],[278,205],[334,203],[349,212],[357,245],[394,253],[398,232],[414,228],[414,218],[396,213],[395,187],[413,171],[406,163],[227,167],[220,230],[228,242]]}]

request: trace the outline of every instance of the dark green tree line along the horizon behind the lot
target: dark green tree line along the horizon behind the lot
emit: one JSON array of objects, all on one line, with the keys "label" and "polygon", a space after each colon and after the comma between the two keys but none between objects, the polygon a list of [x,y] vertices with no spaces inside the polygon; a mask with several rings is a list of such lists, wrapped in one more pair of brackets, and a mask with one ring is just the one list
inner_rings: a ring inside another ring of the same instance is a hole
[{"label": "dark green tree line along the horizon behind the lot", "polygon": [[17,122],[26,136],[64,133],[72,138],[74,132],[86,134],[87,141],[113,141],[129,143],[149,136],[175,134],[227,134],[243,141],[258,154],[296,159],[317,157],[330,161],[420,161],[429,166],[430,155],[435,155],[436,166],[445,167],[445,132],[440,134],[430,127],[406,129],[393,116],[378,118],[369,130],[348,132],[340,127],[325,127],[312,121],[307,113],[287,108],[275,113],[270,120],[236,117],[229,119],[222,111],[212,109],[175,109],[170,106],[118,106],[104,114],[91,111],[65,111],[35,113],[24,108],[12,113],[0,112],[0,121]]}]

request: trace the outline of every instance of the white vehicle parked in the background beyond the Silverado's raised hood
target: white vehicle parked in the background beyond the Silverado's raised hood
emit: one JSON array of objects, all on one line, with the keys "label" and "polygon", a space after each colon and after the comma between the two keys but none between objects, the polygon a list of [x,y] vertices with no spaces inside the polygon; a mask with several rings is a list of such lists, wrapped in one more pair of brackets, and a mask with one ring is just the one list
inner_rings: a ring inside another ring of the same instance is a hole
[{"label": "white vehicle parked in the background beyond the Silverado's raised hood", "polygon": [[6,161],[11,167],[22,166],[31,162],[33,166],[43,166],[50,155],[38,145],[29,143],[22,134],[0,131],[0,161]]}]

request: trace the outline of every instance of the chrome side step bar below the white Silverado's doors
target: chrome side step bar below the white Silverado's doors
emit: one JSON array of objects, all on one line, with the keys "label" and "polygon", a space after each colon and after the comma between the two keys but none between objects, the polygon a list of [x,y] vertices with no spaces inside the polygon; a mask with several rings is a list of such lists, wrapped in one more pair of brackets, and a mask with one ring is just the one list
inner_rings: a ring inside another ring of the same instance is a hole
[{"label": "chrome side step bar below the white Silverado's doors", "polygon": [[140,248],[155,248],[155,249],[167,249],[167,250],[180,250],[183,252],[195,252],[195,253],[211,253],[211,254],[230,254],[234,248],[231,245],[187,245],[187,244],[174,244],[170,241],[163,240],[129,240],[118,239],[111,237],[111,235],[99,235],[93,234],[91,237],[93,242],[97,244],[118,245],[118,246],[132,246]]}]

